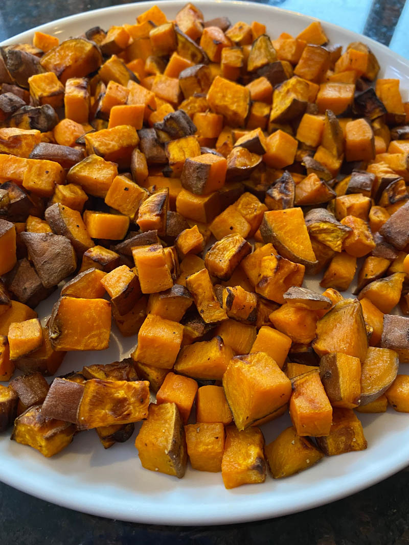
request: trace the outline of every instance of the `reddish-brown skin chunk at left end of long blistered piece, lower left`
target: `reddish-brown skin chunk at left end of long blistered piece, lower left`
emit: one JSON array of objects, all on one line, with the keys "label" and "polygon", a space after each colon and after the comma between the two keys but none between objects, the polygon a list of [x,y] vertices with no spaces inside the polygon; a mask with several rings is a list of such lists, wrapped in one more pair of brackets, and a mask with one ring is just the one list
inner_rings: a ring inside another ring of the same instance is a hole
[{"label": "reddish-brown skin chunk at left end of long blistered piece, lower left", "polygon": [[49,418],[76,424],[83,393],[83,384],[57,377],[50,385],[41,413]]}]

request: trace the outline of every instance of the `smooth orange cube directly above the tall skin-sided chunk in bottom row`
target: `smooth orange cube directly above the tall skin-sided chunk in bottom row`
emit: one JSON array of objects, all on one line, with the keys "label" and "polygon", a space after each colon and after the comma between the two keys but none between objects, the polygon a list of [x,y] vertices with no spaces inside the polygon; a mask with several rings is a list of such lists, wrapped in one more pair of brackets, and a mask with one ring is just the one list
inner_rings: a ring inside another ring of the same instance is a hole
[{"label": "smooth orange cube directly above the tall skin-sided chunk in bottom row", "polygon": [[175,373],[167,373],[157,392],[157,404],[176,403],[184,424],[188,423],[197,392],[197,382]]}]

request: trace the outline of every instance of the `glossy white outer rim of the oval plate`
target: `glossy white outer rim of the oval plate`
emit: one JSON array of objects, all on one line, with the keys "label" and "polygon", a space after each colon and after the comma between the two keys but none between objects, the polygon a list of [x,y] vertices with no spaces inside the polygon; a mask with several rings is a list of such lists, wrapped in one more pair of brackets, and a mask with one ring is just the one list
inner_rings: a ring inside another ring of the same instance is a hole
[{"label": "glossy white outer rim of the oval plate", "polygon": [[[305,21],[306,23],[312,22],[312,21],[320,21],[323,23],[324,27],[328,30],[328,33],[331,32],[341,32],[345,35],[346,39],[352,39],[352,40],[360,40],[364,43],[368,44],[370,47],[381,50],[388,56],[392,54],[394,58],[394,63],[397,64],[403,64],[404,68],[408,71],[408,60],[401,56],[399,53],[395,53],[394,51],[390,50],[389,47],[377,42],[376,40],[366,37],[362,34],[359,34],[357,32],[351,31],[349,29],[346,29],[344,27],[341,27],[339,25],[335,25],[334,23],[330,23],[321,19],[318,19],[317,17],[313,17],[310,15],[304,15],[300,14],[297,11],[287,10],[284,8],[279,8],[273,5],[269,4],[258,4],[255,2],[248,2],[243,0],[194,0],[194,3],[197,4],[198,7],[202,6],[204,9],[208,7],[211,4],[224,4],[226,6],[226,10],[229,8],[233,9],[234,5],[240,5],[244,8],[249,8],[255,12],[260,12],[261,14],[265,14],[266,10],[271,11],[272,13],[279,13],[281,15],[290,16],[292,18],[297,19],[298,21]],[[106,16],[106,14],[109,14],[111,12],[115,13],[121,13],[122,11],[126,14],[129,13],[130,10],[136,9],[139,11],[142,11],[144,8],[151,7],[154,5],[154,1],[143,1],[143,2],[134,2],[134,3],[128,3],[128,4],[121,4],[121,5],[112,5],[105,8],[99,8],[94,10],[88,10],[82,13],[77,13],[73,15],[68,15],[66,17],[62,17],[61,19],[56,19],[47,23],[43,23],[41,25],[38,25],[36,27],[30,28],[26,31],[23,31],[19,34],[14,35],[13,37],[7,38],[3,40],[0,43],[0,46],[4,45],[13,45],[15,43],[18,43],[21,40],[27,40],[29,39],[32,34],[36,31],[41,32],[47,32],[50,34],[54,34],[57,32],[59,27],[63,27],[66,24],[71,24],[75,21],[78,21],[81,24],[81,21],[87,20],[88,18],[95,19],[98,21],[98,18],[101,16]],[[166,7],[177,7],[177,6],[183,6],[185,4],[184,0],[161,0],[160,5],[164,6],[164,11],[166,11]],[[256,14],[255,14],[256,18]],[[82,28],[79,29],[79,31],[82,31]],[[5,438],[4,438],[5,439]],[[132,439],[131,439],[132,440]],[[264,500],[260,499],[260,496],[257,495],[251,495],[249,496],[249,502],[252,504],[251,511],[249,513],[245,513],[245,509],[243,507],[243,503],[238,504],[238,510],[237,512],[234,510],[231,510],[230,512],[219,512],[219,513],[213,513],[212,516],[207,517],[206,519],[202,516],[191,515],[191,514],[182,514],[182,513],[159,513],[158,511],[144,511],[143,509],[137,510],[134,506],[130,506],[128,510],[122,510],[119,511],[118,509],[112,510],[111,507],[104,507],[101,504],[97,504],[95,506],[90,504],[84,504],[83,502],[79,501],[74,496],[70,495],[61,495],[61,493],[58,492],[58,490],[55,490],[52,488],[52,486],[46,486],[44,485],[42,487],[36,486],[34,483],[27,483],[24,481],[24,473],[21,475],[13,475],[13,477],[10,477],[7,473],[2,470],[2,466],[0,465],[0,480],[4,482],[5,484],[16,488],[20,490],[21,492],[25,492],[28,494],[31,494],[32,496],[35,496],[36,498],[50,501],[53,504],[60,505],[66,508],[73,509],[75,511],[81,511],[88,514],[92,514],[95,516],[105,517],[105,518],[115,518],[119,520],[125,520],[128,522],[139,522],[139,523],[145,523],[145,524],[161,524],[161,525],[183,525],[183,526],[190,526],[190,525],[202,525],[202,526],[208,526],[208,525],[220,525],[220,524],[237,524],[240,522],[250,522],[253,520],[262,520],[262,519],[268,519],[268,518],[275,518],[280,516],[285,516],[287,514],[297,513],[304,510],[309,510],[314,507],[318,507],[321,505],[327,505],[333,501],[345,498],[346,496],[352,495],[354,493],[359,492],[360,490],[369,488],[372,485],[375,485],[376,483],[387,479],[390,475],[393,475],[400,471],[402,468],[406,467],[409,463],[409,443],[406,447],[402,445],[402,448],[399,451],[396,451],[392,455],[392,462],[389,458],[389,465],[385,465],[383,467],[383,470],[377,471],[375,474],[371,475],[368,473],[368,469],[365,468],[362,470],[362,472],[359,474],[359,477],[349,484],[349,486],[346,486],[343,489],[338,489],[336,487],[333,487],[333,490],[330,492],[327,492],[322,497],[315,494],[314,500],[311,500],[311,498],[308,498],[308,494],[305,495],[305,490],[303,490],[303,493],[301,494],[302,498],[297,501],[296,506],[291,505],[271,505],[271,504],[264,504]],[[373,464],[372,464],[373,465]],[[378,468],[379,469],[379,468]],[[291,479],[291,477],[289,477]],[[340,479],[338,477],[337,479]],[[176,483],[177,484],[177,483]],[[274,491],[272,492],[274,494]],[[231,502],[234,503],[234,497],[231,496]]]}]

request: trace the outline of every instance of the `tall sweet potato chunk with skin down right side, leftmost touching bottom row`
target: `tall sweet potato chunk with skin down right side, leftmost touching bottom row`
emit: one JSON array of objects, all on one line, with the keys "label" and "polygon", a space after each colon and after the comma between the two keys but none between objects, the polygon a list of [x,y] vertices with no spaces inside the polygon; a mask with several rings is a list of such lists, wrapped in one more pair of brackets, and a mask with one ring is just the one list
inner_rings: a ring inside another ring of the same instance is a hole
[{"label": "tall sweet potato chunk with skin down right side, leftmost touching bottom row", "polygon": [[175,403],[149,405],[149,415],[135,440],[142,467],[183,477],[188,461],[185,432]]}]

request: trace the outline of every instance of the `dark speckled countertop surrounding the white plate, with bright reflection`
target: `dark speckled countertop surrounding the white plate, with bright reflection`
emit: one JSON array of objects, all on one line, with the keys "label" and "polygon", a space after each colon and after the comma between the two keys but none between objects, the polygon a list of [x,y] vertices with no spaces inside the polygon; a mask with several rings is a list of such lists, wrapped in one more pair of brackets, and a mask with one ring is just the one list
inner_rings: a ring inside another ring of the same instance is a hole
[{"label": "dark speckled countertop surrounding the white plate, with bright reflection", "polygon": [[[127,0],[3,0],[0,41],[67,15]],[[409,57],[404,0],[272,0],[365,33]],[[402,13],[401,13],[402,12]],[[351,16],[353,14],[353,16]],[[399,19],[400,17],[400,19]],[[409,461],[408,461],[409,462]],[[232,526],[172,527],[124,523],[71,511],[0,483],[0,543],[9,545],[119,545],[138,543],[305,543],[317,545],[409,545],[409,468],[332,504],[292,516]]]}]

